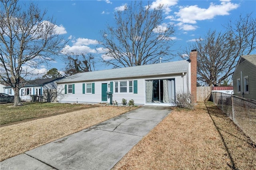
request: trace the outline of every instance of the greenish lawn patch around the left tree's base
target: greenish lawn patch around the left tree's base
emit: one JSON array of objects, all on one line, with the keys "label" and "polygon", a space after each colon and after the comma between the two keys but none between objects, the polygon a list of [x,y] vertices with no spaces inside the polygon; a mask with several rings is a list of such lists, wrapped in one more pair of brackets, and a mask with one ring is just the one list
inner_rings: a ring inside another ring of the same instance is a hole
[{"label": "greenish lawn patch around the left tree's base", "polygon": [[57,113],[65,113],[89,107],[90,105],[71,105],[67,103],[22,103],[22,106],[13,107],[13,104],[0,105],[0,125],[44,117]]}]

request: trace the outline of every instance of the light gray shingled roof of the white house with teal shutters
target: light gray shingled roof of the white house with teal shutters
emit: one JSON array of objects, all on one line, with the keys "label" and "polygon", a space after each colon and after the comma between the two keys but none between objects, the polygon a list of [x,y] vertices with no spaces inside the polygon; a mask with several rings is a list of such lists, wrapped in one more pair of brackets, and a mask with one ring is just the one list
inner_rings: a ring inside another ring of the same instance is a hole
[{"label": "light gray shingled roof of the white house with teal shutters", "polygon": [[188,63],[188,60],[182,60],[168,63],[158,63],[151,65],[140,65],[135,67],[124,67],[119,69],[77,73],[75,75],[58,81],[58,83],[120,79],[128,77],[142,77],[149,75],[174,74],[183,72],[186,73],[188,69]]}]

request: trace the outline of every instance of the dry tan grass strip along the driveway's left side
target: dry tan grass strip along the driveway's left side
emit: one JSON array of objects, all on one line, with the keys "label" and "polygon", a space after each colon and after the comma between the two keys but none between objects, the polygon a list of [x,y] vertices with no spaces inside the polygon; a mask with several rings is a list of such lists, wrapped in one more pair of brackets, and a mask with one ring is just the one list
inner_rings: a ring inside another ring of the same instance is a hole
[{"label": "dry tan grass strip along the driveway's left side", "polygon": [[0,128],[0,161],[91,127],[136,107],[96,107]]}]

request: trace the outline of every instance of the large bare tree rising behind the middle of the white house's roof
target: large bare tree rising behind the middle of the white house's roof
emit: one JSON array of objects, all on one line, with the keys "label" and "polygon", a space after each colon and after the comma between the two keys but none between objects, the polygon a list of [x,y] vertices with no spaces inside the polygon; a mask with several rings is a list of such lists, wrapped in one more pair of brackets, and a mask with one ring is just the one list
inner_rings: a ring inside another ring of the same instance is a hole
[{"label": "large bare tree rising behind the middle of the white house's roof", "polygon": [[172,24],[163,23],[163,6],[155,9],[132,1],[125,10],[115,13],[115,25],[102,31],[101,44],[106,49],[102,57],[106,65],[131,67],[172,59]]}]

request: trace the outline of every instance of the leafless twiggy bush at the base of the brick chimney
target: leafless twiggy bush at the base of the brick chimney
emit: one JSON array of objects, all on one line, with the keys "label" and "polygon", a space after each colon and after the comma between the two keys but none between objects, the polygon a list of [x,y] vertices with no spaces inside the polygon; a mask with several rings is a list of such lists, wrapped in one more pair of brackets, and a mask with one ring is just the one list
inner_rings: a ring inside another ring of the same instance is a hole
[{"label": "leafless twiggy bush at the base of the brick chimney", "polygon": [[190,93],[178,93],[175,103],[180,108],[194,109],[194,97]]}]

